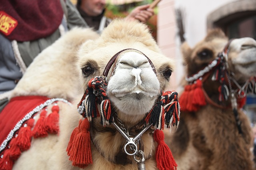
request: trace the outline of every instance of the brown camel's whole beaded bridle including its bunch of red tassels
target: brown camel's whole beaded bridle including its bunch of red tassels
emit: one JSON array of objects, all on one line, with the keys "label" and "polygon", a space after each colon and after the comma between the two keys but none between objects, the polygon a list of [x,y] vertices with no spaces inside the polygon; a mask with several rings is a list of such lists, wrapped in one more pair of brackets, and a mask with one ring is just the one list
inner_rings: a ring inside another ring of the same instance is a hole
[{"label": "brown camel's whole beaded bridle including its bunch of red tassels", "polygon": [[[246,102],[246,94],[249,92],[256,93],[256,77],[252,77],[240,86],[234,79],[234,73],[228,70],[228,54],[230,52],[230,40],[225,46],[224,50],[218,54],[218,57],[198,71],[192,76],[186,76],[188,85],[184,87],[184,92],[180,96],[180,104],[183,111],[198,111],[207,103],[215,107],[226,109],[231,107],[236,119],[239,133],[242,134],[241,121],[238,116],[238,107],[242,108]],[[212,75],[212,81],[220,82],[218,88],[218,101],[228,101],[231,98],[231,106],[225,107],[212,101],[203,88],[203,83]],[[236,90],[232,88],[231,81],[236,85]]]}]

